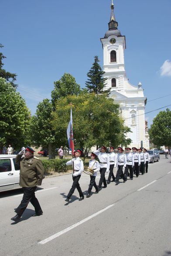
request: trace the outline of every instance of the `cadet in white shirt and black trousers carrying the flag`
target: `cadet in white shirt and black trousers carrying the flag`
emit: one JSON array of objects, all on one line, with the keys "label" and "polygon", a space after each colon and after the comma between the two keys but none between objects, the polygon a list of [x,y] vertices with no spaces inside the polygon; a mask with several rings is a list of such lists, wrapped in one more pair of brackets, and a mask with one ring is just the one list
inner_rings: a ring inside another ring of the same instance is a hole
[{"label": "cadet in white shirt and black trousers carrying the flag", "polygon": [[67,198],[65,199],[66,202],[69,202],[69,198],[74,193],[75,188],[79,191],[79,201],[82,201],[84,199],[84,195],[82,193],[81,187],[79,186],[79,179],[81,177],[81,173],[84,170],[82,159],[79,157],[82,155],[81,149],[75,150],[75,158],[72,158],[72,160],[68,161],[66,165],[72,165],[74,163],[74,172],[72,173],[72,188],[69,190],[69,193],[67,195]]}]

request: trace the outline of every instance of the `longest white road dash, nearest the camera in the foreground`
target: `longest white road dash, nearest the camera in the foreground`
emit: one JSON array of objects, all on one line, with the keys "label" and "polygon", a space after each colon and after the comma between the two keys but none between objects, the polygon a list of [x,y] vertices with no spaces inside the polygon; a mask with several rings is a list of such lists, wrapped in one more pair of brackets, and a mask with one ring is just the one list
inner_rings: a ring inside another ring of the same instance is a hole
[{"label": "longest white road dash, nearest the camera in the foreground", "polygon": [[115,204],[110,204],[110,205],[107,206],[106,208],[104,208],[104,209],[102,209],[102,210],[100,210],[100,211],[98,211],[98,212],[96,212],[96,213],[90,215],[89,217],[83,219],[82,221],[79,221],[79,222],[75,223],[74,225],[72,225],[72,226],[70,226],[70,227],[68,227],[68,228],[63,229],[62,231],[60,231],[60,232],[58,232],[58,233],[56,233],[56,234],[54,234],[54,235],[49,236],[48,238],[46,238],[46,239],[44,239],[44,240],[42,240],[41,242],[38,242],[38,243],[41,244],[41,245],[43,245],[43,244],[45,244],[45,243],[47,243],[47,242],[50,242],[51,240],[57,238],[58,236],[65,234],[66,232],[70,231],[70,230],[73,229],[73,228],[76,228],[77,226],[81,225],[81,224],[84,223],[85,221],[89,221],[90,219],[92,219],[92,218],[94,218],[95,216],[101,214],[103,211],[108,210],[109,208],[113,207],[114,205],[115,205]]}]

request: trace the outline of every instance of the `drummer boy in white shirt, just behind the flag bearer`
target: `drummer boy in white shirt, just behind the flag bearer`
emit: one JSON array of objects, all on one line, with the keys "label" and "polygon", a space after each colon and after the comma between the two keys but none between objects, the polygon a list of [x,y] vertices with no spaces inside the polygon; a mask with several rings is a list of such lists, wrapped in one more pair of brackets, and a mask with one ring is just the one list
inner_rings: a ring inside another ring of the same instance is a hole
[{"label": "drummer boy in white shirt, just behind the flag bearer", "polygon": [[92,169],[94,171],[93,175],[90,175],[90,183],[89,183],[89,189],[88,189],[88,194],[86,195],[86,197],[91,197],[91,191],[92,191],[92,187],[94,186],[96,189],[95,194],[99,193],[99,189],[96,185],[96,176],[97,176],[97,172],[100,170],[100,166],[99,166],[99,162],[96,160],[96,154],[91,153],[91,160],[89,161],[89,168]]}]

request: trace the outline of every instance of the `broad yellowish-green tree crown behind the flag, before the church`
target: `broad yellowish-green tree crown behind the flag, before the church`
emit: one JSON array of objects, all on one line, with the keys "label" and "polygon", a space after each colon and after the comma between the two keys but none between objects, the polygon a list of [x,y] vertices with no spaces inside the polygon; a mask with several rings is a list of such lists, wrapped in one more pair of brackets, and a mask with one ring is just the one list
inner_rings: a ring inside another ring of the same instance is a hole
[{"label": "broad yellowish-green tree crown behind the flag, before the church", "polygon": [[106,95],[85,92],[58,100],[52,123],[61,144],[68,144],[66,129],[71,102],[75,148],[84,148],[86,155],[95,145],[117,147],[130,144],[131,140],[126,138],[130,129],[123,125],[119,105],[113,104],[113,100],[106,98]]}]

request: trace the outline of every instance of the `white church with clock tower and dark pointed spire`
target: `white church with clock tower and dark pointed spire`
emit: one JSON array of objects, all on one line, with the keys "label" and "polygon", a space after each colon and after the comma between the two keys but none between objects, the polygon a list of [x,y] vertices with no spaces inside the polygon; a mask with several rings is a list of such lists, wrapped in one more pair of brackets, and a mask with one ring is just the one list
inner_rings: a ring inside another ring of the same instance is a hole
[{"label": "white church with clock tower and dark pointed spire", "polygon": [[118,30],[113,10],[112,0],[109,30],[104,38],[100,39],[103,45],[104,77],[107,78],[106,89],[111,88],[109,97],[113,98],[115,103],[120,104],[125,125],[132,131],[127,135],[132,140],[130,147],[140,148],[143,146],[149,149],[149,135],[144,114],[147,98],[144,97],[141,83],[138,86],[133,86],[127,79],[124,65],[125,36],[121,35]]}]

